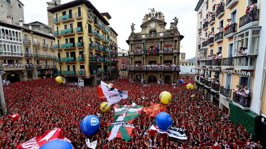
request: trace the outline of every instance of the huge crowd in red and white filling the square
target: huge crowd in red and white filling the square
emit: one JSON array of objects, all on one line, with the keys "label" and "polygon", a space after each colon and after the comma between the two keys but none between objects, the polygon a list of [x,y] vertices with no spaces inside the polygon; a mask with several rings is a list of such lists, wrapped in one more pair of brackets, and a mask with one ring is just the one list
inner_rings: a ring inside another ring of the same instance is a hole
[{"label": "huge crowd in red and white filling the square", "polygon": [[[193,80],[187,80],[193,83]],[[107,124],[114,110],[102,113],[99,105],[106,99],[99,99],[95,86],[78,87],[56,84],[54,78],[21,81],[4,86],[7,115],[0,120],[0,148],[16,148],[17,144],[41,135],[54,127],[63,129],[63,135],[70,139],[76,149],[85,149],[86,139],[97,140],[97,149],[260,149],[260,143],[252,138],[241,125],[235,125],[228,113],[220,110],[210,99],[201,95],[197,89],[187,90],[187,83],[177,88],[171,84],[145,84],[133,82],[128,78],[112,80],[116,88],[128,91],[128,98],[118,104],[131,105],[135,102],[144,107],[151,103],[161,104],[159,94],[168,91],[173,98],[166,112],[173,118],[173,126],[185,129],[186,140],[170,137],[166,134],[151,133],[149,127],[155,121],[144,111],[136,119],[130,141],[122,138],[107,140]],[[194,97],[191,97],[194,95]],[[9,116],[19,113],[17,121]],[[98,113],[98,114],[97,114]],[[81,120],[87,115],[98,115],[100,129],[94,135],[84,135],[80,129]]]}]

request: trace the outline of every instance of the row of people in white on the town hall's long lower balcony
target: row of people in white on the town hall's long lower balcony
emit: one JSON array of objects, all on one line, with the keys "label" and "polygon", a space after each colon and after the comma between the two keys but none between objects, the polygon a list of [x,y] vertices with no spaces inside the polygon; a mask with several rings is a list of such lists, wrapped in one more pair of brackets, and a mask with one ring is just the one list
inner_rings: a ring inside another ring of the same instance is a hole
[{"label": "row of people in white on the town hall's long lower balcony", "polygon": [[179,65],[173,63],[166,63],[166,64],[135,64],[129,65],[128,70],[172,70],[177,71],[179,70]]}]

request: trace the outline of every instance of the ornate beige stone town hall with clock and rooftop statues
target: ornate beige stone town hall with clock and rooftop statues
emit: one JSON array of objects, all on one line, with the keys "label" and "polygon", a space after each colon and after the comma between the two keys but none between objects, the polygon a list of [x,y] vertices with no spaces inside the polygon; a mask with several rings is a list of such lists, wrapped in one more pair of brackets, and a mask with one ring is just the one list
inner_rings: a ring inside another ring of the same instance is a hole
[{"label": "ornate beige stone town hall with clock and rooftop statues", "polygon": [[[175,21],[176,24],[170,23],[170,29],[166,29],[164,15],[160,11],[154,15],[154,12],[153,10],[151,15],[146,14],[142,19],[140,33],[134,33],[134,27],[132,27],[134,25],[131,26],[132,33],[127,40],[130,65],[179,64],[180,41],[184,36],[180,35],[176,27],[177,20]],[[128,70],[131,79],[138,81],[144,78],[147,79],[147,82],[156,82],[160,78],[164,79],[165,82],[172,82],[178,79],[180,71],[179,68],[164,71],[149,68],[129,68]]]}]

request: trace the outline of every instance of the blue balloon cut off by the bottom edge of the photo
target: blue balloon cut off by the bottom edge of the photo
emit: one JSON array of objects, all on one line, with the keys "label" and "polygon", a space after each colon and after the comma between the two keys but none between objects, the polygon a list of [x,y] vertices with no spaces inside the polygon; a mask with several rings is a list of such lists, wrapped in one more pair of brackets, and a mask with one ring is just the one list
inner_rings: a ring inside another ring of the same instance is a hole
[{"label": "blue balloon cut off by the bottom edge of the photo", "polygon": [[73,149],[72,144],[64,139],[53,139],[40,147],[40,149]]}]

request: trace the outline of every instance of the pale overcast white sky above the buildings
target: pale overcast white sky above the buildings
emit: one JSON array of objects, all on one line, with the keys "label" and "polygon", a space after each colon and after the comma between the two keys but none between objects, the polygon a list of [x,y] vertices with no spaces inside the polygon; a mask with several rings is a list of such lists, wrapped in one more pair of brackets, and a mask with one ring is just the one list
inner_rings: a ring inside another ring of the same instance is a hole
[{"label": "pale overcast white sky above the buildings", "polygon": [[[47,4],[49,0],[20,0],[24,4],[24,21],[31,23],[39,21],[48,24]],[[72,0],[61,0],[61,4]],[[142,18],[148,14],[149,8],[161,11],[164,14],[166,29],[170,28],[170,23],[174,17],[179,18],[177,24],[178,31],[185,36],[180,45],[180,52],[186,53],[186,59],[192,58],[196,54],[196,17],[194,11],[198,0],[90,0],[99,12],[108,12],[110,26],[118,33],[118,47],[128,50],[129,46],[125,42],[131,33],[131,23],[135,25],[135,33],[141,31]]]}]

